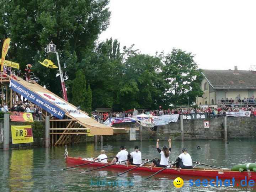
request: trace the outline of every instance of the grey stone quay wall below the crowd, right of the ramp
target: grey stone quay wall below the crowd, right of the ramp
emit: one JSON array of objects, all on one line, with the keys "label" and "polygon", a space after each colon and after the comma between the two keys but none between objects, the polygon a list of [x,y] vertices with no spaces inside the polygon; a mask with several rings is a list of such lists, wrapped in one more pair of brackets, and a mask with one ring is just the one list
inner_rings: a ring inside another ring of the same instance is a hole
[{"label": "grey stone quay wall below the crowd, right of the ramp", "polygon": [[[210,128],[204,128],[204,121],[209,121]],[[134,123],[117,123],[114,127],[134,127]],[[183,119],[185,140],[194,139],[224,139],[224,117],[209,119]],[[227,117],[228,139],[254,139],[256,137],[256,117]],[[177,123],[169,123],[165,126],[157,126],[155,130],[148,131],[143,127],[142,139],[155,140],[181,140],[180,119]],[[106,140],[129,140],[129,134],[104,136]],[[136,131],[136,139],[140,140],[140,131]]]}]

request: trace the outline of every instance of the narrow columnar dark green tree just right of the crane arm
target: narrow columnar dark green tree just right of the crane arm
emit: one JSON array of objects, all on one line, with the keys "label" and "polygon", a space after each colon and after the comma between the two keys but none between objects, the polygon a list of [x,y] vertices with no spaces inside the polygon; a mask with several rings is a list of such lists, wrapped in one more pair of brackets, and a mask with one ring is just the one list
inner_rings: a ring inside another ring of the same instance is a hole
[{"label": "narrow columnar dark green tree just right of the crane arm", "polygon": [[72,89],[72,104],[75,106],[80,106],[82,111],[86,110],[86,99],[87,99],[87,90],[86,90],[86,79],[82,74],[82,70],[79,69],[76,72],[76,78],[73,81]]}]

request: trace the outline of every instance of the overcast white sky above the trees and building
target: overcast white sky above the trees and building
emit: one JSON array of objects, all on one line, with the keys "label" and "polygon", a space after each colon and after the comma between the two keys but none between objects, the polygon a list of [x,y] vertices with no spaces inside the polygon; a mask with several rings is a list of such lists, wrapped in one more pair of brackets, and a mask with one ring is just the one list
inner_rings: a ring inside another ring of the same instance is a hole
[{"label": "overcast white sky above the trees and building", "polygon": [[254,0],[110,0],[100,40],[135,44],[143,54],[192,52],[199,68],[249,70],[256,65]]}]

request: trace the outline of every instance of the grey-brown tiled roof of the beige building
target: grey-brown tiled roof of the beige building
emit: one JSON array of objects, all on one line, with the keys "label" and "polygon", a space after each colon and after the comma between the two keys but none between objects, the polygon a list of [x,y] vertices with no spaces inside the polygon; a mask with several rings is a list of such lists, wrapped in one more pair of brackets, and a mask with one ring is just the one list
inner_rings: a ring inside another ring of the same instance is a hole
[{"label": "grey-brown tiled roof of the beige building", "polygon": [[214,89],[256,89],[256,73],[247,70],[203,70]]}]

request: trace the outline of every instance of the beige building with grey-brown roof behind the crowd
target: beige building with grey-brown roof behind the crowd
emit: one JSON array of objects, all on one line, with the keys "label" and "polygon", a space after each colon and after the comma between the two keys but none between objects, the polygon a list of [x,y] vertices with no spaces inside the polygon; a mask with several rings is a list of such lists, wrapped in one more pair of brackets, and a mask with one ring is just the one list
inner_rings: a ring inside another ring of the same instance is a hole
[{"label": "beige building with grey-brown roof behind the crowd", "polygon": [[219,105],[222,98],[240,98],[256,96],[256,71],[238,70],[203,70],[204,78],[201,89],[203,97],[197,97],[196,104]]}]

